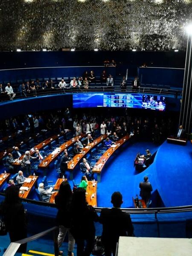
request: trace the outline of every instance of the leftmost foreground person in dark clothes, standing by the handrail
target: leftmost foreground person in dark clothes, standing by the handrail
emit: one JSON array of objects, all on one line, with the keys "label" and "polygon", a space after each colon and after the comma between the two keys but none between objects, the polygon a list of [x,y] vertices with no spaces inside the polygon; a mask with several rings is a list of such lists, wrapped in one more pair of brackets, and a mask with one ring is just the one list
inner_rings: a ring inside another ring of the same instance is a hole
[{"label": "leftmost foreground person in dark clothes, standing by the handrail", "polygon": [[[5,201],[0,206],[11,242],[27,237],[26,213],[20,202],[19,190],[16,186],[6,189]],[[21,244],[17,252],[26,253],[27,244]]]}]

